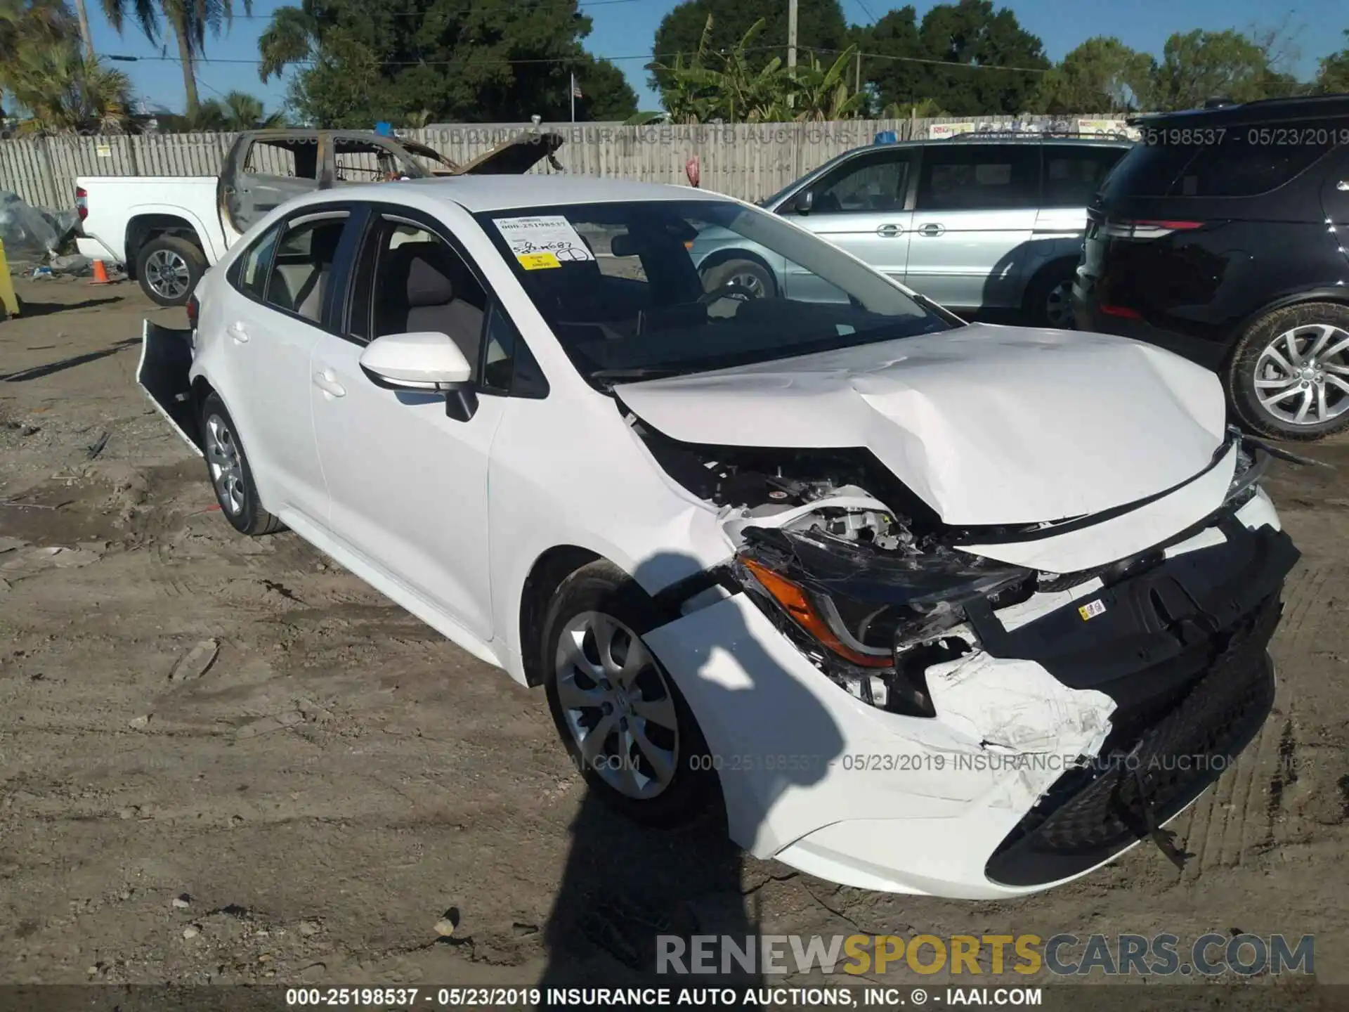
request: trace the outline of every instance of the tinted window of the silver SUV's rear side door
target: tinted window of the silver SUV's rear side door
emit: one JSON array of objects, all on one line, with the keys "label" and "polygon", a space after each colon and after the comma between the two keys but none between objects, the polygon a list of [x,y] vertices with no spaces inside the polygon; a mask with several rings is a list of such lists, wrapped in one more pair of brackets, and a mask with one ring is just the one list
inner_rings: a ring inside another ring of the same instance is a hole
[{"label": "tinted window of the silver SUV's rear side door", "polygon": [[1040,151],[1029,144],[931,146],[923,151],[919,210],[1035,208]]}]

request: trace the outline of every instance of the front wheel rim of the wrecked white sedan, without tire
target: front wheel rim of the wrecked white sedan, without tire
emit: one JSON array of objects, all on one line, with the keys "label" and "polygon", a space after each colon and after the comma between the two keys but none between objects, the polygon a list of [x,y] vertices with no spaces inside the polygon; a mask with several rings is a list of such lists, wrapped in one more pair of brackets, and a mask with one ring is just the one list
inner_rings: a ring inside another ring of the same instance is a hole
[{"label": "front wheel rim of the wrecked white sedan, without tire", "polygon": [[680,758],[674,696],[641,637],[583,611],[557,641],[557,702],[581,761],[637,800],[662,793]]}]

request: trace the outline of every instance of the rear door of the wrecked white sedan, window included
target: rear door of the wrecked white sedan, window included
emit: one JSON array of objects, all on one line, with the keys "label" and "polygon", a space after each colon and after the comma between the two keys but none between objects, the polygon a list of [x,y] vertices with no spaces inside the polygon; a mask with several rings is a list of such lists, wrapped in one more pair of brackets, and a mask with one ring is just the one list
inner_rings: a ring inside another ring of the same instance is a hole
[{"label": "rear door of the wrecked white sedan, window included", "polygon": [[220,317],[225,406],[244,439],[267,509],[321,522],[328,493],[310,410],[309,360],[324,333],[332,264],[351,219],[308,206],[260,236],[231,271]]}]

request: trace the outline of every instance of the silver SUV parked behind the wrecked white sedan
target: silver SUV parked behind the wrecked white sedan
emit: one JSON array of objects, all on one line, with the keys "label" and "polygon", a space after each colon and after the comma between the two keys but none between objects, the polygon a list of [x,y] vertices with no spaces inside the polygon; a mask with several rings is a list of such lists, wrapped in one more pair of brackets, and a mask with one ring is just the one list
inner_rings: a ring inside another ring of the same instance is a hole
[{"label": "silver SUV parked behind the wrecked white sedan", "polygon": [[[1021,310],[1033,324],[1068,328],[1087,204],[1129,147],[982,134],[881,143],[826,162],[759,205],[934,302]],[[824,282],[722,229],[701,232],[692,254],[710,291],[835,294],[807,291]]]}]

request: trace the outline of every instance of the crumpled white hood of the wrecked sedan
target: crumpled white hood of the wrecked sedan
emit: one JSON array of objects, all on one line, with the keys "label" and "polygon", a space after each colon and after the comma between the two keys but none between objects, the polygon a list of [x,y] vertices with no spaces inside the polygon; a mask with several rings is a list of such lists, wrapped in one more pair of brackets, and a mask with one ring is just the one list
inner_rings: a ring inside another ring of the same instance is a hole
[{"label": "crumpled white hood of the wrecked sedan", "polygon": [[865,447],[952,525],[1124,506],[1222,444],[1217,375],[1125,337],[975,324],[615,387],[672,439]]}]

